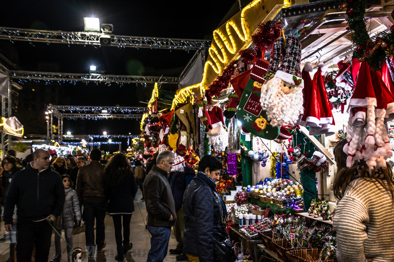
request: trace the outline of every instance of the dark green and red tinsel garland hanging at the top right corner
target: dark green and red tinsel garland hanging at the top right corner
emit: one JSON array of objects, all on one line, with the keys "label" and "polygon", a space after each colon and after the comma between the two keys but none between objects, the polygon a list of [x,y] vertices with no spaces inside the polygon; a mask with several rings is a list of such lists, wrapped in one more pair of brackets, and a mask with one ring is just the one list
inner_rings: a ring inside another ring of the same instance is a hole
[{"label": "dark green and red tinsel garland hanging at the top right corner", "polygon": [[[346,14],[348,17],[346,21],[349,25],[348,29],[352,31],[352,42],[357,45],[353,55],[360,61],[366,60],[373,70],[381,70],[386,58],[385,51],[389,56],[393,55],[390,54],[392,53],[390,50],[394,46],[393,33],[383,33],[381,38],[377,37],[376,41],[373,42],[365,25],[365,1],[347,0],[343,6],[347,6]],[[383,44],[383,46],[380,44]]]}]

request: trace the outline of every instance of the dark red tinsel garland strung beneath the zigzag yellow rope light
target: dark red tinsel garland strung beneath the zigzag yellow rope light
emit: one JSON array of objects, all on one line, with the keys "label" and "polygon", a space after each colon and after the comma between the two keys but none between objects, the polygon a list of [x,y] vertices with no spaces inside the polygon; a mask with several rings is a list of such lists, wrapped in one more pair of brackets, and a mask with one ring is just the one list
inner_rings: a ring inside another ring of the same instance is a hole
[{"label": "dark red tinsel garland strung beneath the zigzag yellow rope light", "polygon": [[[280,23],[271,27],[271,21],[260,23],[257,32],[252,35],[253,49],[244,49],[239,51],[240,60],[245,64],[253,62],[254,57],[260,58],[262,50],[271,46],[280,36]],[[235,63],[236,64],[236,63]],[[229,82],[234,75],[234,63],[228,64],[215,80],[208,86],[205,96],[208,103],[213,97],[220,96],[224,89],[227,89]]]}]

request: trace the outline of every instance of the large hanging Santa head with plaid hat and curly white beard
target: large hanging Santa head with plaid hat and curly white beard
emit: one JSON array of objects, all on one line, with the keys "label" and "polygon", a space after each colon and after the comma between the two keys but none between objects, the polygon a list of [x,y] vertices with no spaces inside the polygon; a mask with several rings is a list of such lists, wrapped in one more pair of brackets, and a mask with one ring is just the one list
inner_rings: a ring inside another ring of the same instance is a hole
[{"label": "large hanging Santa head with plaid hat and curly white beard", "polygon": [[260,95],[261,107],[267,111],[271,126],[294,126],[303,112],[300,59],[301,44],[296,37],[282,36],[275,41],[265,76],[269,80],[264,82]]}]

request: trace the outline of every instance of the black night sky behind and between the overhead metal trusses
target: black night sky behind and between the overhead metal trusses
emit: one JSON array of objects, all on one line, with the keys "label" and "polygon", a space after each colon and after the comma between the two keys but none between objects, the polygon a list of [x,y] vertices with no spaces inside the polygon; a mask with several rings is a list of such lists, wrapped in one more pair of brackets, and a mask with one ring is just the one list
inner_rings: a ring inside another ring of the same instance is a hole
[{"label": "black night sky behind and between the overhead metal trusses", "polygon": [[[2,1],[0,26],[78,32],[83,31],[83,17],[95,16],[100,18],[100,23],[111,23],[115,35],[211,39],[213,30],[220,26],[234,4],[236,8],[232,9],[232,15],[239,11],[238,1],[5,0]],[[0,58],[0,62],[10,69],[38,71],[45,68],[42,64],[49,64],[62,73],[88,73],[89,66],[95,64],[106,74],[179,76],[194,52],[0,40],[0,54],[17,65],[17,68],[11,68]],[[32,94],[31,85],[34,83],[21,85],[24,90],[20,92],[30,90],[23,96],[25,99]],[[53,83],[51,88],[63,90],[62,97],[56,103],[58,105],[140,106],[144,104],[139,101],[150,98],[153,85],[124,84],[120,87],[117,84]],[[177,87],[163,85],[162,88],[174,91]],[[39,110],[43,112],[48,103],[54,104],[42,101]],[[123,121],[100,123],[67,121],[64,126],[79,134],[100,134],[101,129],[113,129],[112,133],[118,134],[128,133],[126,129],[130,130],[130,127],[138,130],[135,120],[129,124]]]}]

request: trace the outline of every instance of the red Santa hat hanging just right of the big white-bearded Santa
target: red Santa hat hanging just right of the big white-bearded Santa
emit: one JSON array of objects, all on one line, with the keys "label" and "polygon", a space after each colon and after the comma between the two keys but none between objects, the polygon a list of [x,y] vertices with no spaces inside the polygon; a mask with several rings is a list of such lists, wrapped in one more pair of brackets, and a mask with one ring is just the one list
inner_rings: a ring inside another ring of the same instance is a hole
[{"label": "red Santa hat hanging just right of the big white-bearded Santa", "polygon": [[317,127],[320,124],[320,107],[316,98],[316,87],[312,83],[311,75],[313,67],[311,62],[306,62],[302,69],[301,76],[304,81],[304,113],[299,121],[299,125],[304,127]]}]

